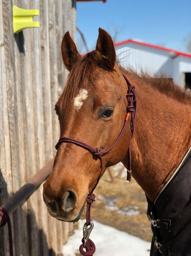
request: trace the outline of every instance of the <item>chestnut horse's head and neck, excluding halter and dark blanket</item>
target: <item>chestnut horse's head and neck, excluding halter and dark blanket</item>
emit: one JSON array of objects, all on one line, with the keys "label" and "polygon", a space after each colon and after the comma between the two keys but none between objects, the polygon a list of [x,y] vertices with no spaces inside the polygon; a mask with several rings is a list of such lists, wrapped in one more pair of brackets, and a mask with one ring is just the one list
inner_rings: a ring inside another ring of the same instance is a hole
[{"label": "chestnut horse's head and neck, excluding halter and dark blanket", "polygon": [[[153,203],[191,147],[190,93],[171,80],[139,76],[121,68],[116,63],[113,41],[102,29],[96,50],[85,56],[78,53],[69,32],[63,37],[61,50],[70,73],[55,106],[60,137],[77,139],[103,151],[114,144],[128,105],[123,72],[137,93],[134,135],[131,140],[127,125],[115,147],[102,156],[101,175],[120,161],[128,166],[131,143],[132,176]],[[49,214],[63,221],[78,221],[99,175],[100,161],[89,150],[72,143],[60,144],[52,173],[44,183]]]}]

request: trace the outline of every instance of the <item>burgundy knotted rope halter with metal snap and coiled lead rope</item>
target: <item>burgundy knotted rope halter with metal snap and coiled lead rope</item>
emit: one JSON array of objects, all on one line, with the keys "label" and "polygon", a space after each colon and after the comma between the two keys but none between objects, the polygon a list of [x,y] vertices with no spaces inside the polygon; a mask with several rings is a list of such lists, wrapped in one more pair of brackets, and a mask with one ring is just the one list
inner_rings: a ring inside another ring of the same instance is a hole
[{"label": "burgundy knotted rope halter with metal snap and coiled lead rope", "polygon": [[[58,140],[58,143],[56,144],[56,149],[58,150],[58,146],[61,143],[73,143],[77,146],[80,146],[82,148],[85,148],[89,151],[91,151],[94,156],[96,156],[97,158],[99,158],[100,160],[100,175],[97,179],[97,182],[95,184],[95,186],[91,189],[91,191],[89,192],[89,194],[87,195],[86,201],[87,201],[87,211],[86,211],[86,223],[84,224],[83,227],[83,239],[82,239],[82,245],[80,246],[80,252],[82,255],[93,255],[95,252],[95,244],[89,239],[89,235],[90,232],[93,228],[93,223],[90,221],[90,213],[91,213],[91,205],[92,202],[95,201],[95,194],[93,194],[94,189],[96,188],[100,178],[101,178],[101,173],[102,173],[102,156],[105,154],[107,154],[119,141],[119,139],[121,138],[126,124],[128,122],[128,118],[129,115],[131,114],[131,122],[130,122],[130,129],[131,129],[131,138],[133,137],[133,133],[134,133],[134,122],[135,122],[135,117],[136,117],[136,112],[137,112],[137,99],[136,99],[136,92],[135,92],[135,87],[133,85],[130,84],[129,80],[126,78],[126,76],[122,73],[123,77],[125,78],[126,84],[128,85],[128,93],[126,95],[127,101],[128,101],[128,107],[127,107],[127,114],[125,117],[125,121],[124,121],[124,125],[123,128],[118,136],[118,138],[116,139],[116,141],[114,142],[114,144],[107,150],[102,151],[102,149],[99,148],[92,148],[91,146],[87,145],[84,142],[81,142],[80,140],[76,140],[76,139],[72,139],[72,138],[67,138],[67,137],[62,137]],[[130,150],[130,145],[129,145],[129,149],[128,149],[128,158],[129,158],[129,162],[128,162],[128,170],[127,170],[127,180],[131,180],[131,150]],[[88,226],[90,225],[90,227],[88,228]],[[86,248],[86,252],[83,250],[83,248]]]}]

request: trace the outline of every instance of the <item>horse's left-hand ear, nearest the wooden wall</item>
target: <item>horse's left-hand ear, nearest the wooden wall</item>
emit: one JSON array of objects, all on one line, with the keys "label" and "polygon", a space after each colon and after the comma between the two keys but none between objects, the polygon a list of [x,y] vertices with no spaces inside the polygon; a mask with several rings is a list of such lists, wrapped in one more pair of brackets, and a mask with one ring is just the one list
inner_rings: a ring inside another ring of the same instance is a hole
[{"label": "horse's left-hand ear, nearest the wooden wall", "polygon": [[61,43],[62,59],[68,71],[71,71],[73,64],[80,58],[75,42],[72,40],[70,33],[66,32]]}]

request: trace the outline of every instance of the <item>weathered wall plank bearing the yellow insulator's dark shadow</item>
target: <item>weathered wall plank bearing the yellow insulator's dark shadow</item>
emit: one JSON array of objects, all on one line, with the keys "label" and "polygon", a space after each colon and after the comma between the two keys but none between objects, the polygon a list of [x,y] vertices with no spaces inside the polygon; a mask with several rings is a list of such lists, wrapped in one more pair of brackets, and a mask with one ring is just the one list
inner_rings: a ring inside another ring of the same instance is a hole
[{"label": "weathered wall plank bearing the yellow insulator's dark shadow", "polygon": [[[16,6],[21,5],[21,0],[14,0]],[[11,6],[12,8],[12,6]],[[17,131],[17,144],[18,144],[18,161],[19,167],[16,170],[13,170],[13,173],[16,172],[15,178],[20,180],[20,186],[23,186],[26,183],[26,172],[25,172],[25,135],[24,131],[24,116],[23,116],[23,94],[22,94],[22,69],[20,65],[20,55],[24,55],[24,37],[23,33],[13,35],[12,30],[10,30],[11,36],[14,40],[14,57],[15,57],[15,111],[16,111],[16,126]],[[16,191],[19,189],[16,188]],[[16,192],[15,191],[15,192]],[[29,241],[25,239],[29,236],[28,233],[28,216],[27,216],[28,203],[24,203],[18,210],[14,213],[14,225],[15,227],[15,238],[19,237],[19,246],[17,244],[17,239],[15,241],[16,255],[29,255]],[[25,243],[23,241],[25,240]]]}]

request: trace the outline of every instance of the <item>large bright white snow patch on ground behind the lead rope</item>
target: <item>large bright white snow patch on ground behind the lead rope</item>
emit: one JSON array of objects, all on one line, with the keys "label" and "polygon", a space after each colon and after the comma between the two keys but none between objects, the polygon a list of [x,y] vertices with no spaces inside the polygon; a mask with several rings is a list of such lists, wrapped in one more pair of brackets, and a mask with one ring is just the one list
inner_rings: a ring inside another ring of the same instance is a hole
[{"label": "large bright white snow patch on ground behind the lead rope", "polygon": [[[151,243],[138,237],[119,231],[113,227],[94,222],[94,229],[90,239],[95,243],[96,252],[94,256],[149,256]],[[76,256],[79,252],[83,236],[83,225],[85,220],[78,221],[78,229],[68,238],[63,246],[64,256]]]}]

